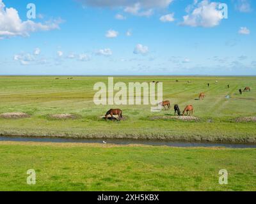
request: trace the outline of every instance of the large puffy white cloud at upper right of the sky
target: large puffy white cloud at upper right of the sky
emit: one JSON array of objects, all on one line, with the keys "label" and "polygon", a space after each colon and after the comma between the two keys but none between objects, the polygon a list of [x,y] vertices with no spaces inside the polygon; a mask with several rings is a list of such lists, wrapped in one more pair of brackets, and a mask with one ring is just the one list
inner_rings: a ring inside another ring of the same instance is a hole
[{"label": "large puffy white cloud at upper right of the sky", "polygon": [[[189,25],[192,27],[214,27],[219,25],[223,19],[223,15],[220,10],[218,10],[219,3],[209,2],[208,0],[203,0],[200,3],[194,2],[194,5],[190,5],[187,8],[188,15],[183,17],[184,21],[181,25]],[[191,8],[194,8],[191,9]],[[193,10],[193,11],[191,11]]]}]

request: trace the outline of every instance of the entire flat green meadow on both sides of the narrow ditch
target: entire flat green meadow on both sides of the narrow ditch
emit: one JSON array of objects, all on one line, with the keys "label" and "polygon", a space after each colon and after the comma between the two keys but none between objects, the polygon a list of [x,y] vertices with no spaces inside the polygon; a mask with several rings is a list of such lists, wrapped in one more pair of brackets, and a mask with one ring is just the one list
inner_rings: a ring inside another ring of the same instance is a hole
[{"label": "entire flat green meadow on both sides of the narrow ditch", "polygon": [[[0,135],[256,142],[255,122],[237,121],[256,115],[256,77],[114,78],[163,82],[171,109],[161,112],[150,112],[152,105],[95,105],[93,85],[108,84],[108,77],[68,78],[0,77],[0,114],[29,115],[0,117]],[[239,94],[246,86],[252,90]],[[200,92],[204,100],[198,100]],[[169,119],[174,104],[180,110],[193,105],[199,120]],[[102,119],[109,108],[122,109],[125,120]],[[76,117],[52,118],[64,113]],[[0,155],[0,191],[256,190],[255,149],[0,142]],[[36,172],[36,185],[26,183],[29,169]],[[227,185],[219,184],[221,169],[228,171]]]}]

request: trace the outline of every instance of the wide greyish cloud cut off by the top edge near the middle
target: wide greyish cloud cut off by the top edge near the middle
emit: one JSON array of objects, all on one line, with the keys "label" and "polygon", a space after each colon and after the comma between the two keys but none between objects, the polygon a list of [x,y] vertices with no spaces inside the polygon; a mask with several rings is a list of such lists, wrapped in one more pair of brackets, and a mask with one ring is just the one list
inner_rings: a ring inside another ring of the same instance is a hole
[{"label": "wide greyish cloud cut off by the top edge near the middle", "polygon": [[77,0],[83,6],[100,8],[122,8],[125,12],[137,16],[150,16],[154,9],[168,8],[173,0]]}]

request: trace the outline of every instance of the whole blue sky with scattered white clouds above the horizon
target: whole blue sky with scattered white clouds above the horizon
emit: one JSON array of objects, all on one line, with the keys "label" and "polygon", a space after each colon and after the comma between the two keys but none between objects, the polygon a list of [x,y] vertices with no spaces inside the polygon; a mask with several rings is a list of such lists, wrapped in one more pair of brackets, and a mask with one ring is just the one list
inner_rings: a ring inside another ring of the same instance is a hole
[{"label": "whole blue sky with scattered white clouds above the horizon", "polygon": [[255,9],[250,0],[0,0],[0,74],[256,75]]}]

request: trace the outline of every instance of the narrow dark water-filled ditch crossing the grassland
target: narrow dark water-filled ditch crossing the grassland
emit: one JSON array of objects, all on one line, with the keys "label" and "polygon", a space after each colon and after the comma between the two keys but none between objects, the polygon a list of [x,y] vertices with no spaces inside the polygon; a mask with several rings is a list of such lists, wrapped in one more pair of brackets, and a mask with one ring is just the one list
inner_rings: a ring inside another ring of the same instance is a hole
[{"label": "narrow dark water-filled ditch crossing the grassland", "polygon": [[104,143],[116,145],[152,145],[168,147],[227,147],[227,148],[256,148],[256,143],[210,143],[210,142],[181,142],[165,140],[132,140],[132,139],[106,139],[106,138],[60,138],[60,137],[25,137],[0,136],[0,141],[9,142],[55,142],[55,143]]}]

